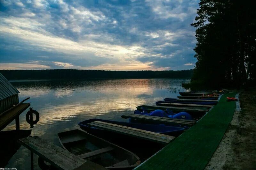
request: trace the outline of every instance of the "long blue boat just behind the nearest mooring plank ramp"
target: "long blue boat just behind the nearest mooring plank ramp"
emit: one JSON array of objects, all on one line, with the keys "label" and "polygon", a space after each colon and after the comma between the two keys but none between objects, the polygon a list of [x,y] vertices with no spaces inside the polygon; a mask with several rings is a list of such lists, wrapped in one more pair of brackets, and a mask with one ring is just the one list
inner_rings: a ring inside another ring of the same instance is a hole
[{"label": "long blue boat just behind the nearest mooring plank ramp", "polygon": [[113,123],[113,124],[122,125],[122,126],[130,127],[130,128],[147,130],[147,131],[161,133],[161,134],[165,134],[165,135],[171,135],[171,136],[178,136],[185,130],[185,128],[176,127],[176,126],[141,124],[141,123],[130,123],[130,122],[117,122],[117,121],[109,121],[109,120],[103,120],[103,119],[89,119],[89,120],[80,122],[78,124],[81,129],[87,131],[88,129],[92,129],[92,127],[89,127],[87,124],[91,123],[91,122],[95,122],[95,121]]}]

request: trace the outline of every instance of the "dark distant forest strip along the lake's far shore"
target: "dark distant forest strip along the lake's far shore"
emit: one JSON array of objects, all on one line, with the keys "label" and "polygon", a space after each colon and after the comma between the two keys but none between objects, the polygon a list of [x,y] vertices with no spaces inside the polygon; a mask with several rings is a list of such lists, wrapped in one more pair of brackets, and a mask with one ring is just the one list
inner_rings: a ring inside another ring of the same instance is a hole
[{"label": "dark distant forest strip along the lake's far shore", "polygon": [[109,78],[191,78],[193,70],[105,71],[105,70],[0,70],[9,80],[109,79]]}]

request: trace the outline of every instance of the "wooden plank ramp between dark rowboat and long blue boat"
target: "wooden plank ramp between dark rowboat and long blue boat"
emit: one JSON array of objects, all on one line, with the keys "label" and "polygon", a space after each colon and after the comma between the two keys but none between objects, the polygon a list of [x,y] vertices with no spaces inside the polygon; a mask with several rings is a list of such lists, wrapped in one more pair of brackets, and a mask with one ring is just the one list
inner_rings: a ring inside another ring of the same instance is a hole
[{"label": "wooden plank ramp between dark rowboat and long blue boat", "polygon": [[172,136],[150,132],[147,130],[141,130],[141,129],[131,128],[131,127],[117,125],[113,123],[100,122],[100,121],[88,123],[88,126],[97,127],[100,129],[132,136],[132,137],[138,137],[141,139],[150,140],[150,141],[161,143],[161,144],[168,144],[172,139],[175,138]]}]

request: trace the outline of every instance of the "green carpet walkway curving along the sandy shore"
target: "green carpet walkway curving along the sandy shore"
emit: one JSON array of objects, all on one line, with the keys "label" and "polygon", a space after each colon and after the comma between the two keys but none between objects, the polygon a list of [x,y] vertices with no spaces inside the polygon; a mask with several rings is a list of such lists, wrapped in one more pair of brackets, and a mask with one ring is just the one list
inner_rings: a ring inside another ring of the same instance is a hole
[{"label": "green carpet walkway curving along the sandy shore", "polygon": [[136,169],[204,169],[217,149],[236,109],[237,92],[223,94],[199,122]]}]

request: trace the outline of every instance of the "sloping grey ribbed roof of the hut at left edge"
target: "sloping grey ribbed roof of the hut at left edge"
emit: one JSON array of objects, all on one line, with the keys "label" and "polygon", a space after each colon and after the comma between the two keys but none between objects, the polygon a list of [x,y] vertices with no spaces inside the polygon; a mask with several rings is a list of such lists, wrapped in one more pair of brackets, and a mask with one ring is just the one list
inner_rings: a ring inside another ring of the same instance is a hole
[{"label": "sloping grey ribbed roof of the hut at left edge", "polygon": [[0,100],[4,100],[19,91],[0,73]]}]

